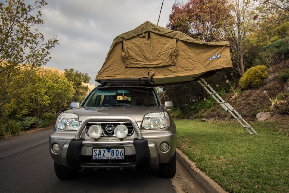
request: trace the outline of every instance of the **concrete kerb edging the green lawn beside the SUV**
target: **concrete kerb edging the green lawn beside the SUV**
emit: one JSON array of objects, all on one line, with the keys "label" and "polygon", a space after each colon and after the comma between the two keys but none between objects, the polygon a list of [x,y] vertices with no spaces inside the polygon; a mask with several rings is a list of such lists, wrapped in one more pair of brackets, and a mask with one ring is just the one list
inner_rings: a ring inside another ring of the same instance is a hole
[{"label": "concrete kerb edging the green lawn beside the SUV", "polygon": [[205,192],[225,193],[226,191],[213,179],[207,176],[181,150],[176,149],[177,160]]}]

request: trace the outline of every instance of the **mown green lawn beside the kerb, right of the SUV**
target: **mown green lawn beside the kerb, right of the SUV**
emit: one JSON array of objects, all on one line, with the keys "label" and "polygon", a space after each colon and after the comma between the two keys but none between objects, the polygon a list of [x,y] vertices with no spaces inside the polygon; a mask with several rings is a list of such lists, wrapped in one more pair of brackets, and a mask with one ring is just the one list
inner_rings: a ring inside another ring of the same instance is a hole
[{"label": "mown green lawn beside the kerb, right of the SUV", "polygon": [[175,124],[177,147],[226,191],[289,192],[289,135],[278,123],[252,123],[258,136],[225,122]]}]

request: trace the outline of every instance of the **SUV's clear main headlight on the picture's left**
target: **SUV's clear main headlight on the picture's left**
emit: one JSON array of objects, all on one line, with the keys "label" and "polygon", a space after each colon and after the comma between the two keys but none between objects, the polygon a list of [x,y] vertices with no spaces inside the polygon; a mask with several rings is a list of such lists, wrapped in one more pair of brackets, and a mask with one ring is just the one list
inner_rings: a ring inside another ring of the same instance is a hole
[{"label": "SUV's clear main headlight on the picture's left", "polygon": [[57,118],[57,128],[62,130],[77,130],[79,127],[78,115],[73,113],[61,113]]}]

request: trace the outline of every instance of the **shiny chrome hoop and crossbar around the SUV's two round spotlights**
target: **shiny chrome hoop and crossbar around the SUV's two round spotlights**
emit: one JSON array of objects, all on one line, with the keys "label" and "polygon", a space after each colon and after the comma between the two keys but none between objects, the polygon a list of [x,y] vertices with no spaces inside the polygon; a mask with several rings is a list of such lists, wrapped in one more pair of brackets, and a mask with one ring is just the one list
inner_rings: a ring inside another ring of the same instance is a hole
[{"label": "shiny chrome hoop and crossbar around the SUV's two round spotlights", "polygon": [[[129,116],[92,116],[92,117],[88,117],[83,119],[83,121],[81,122],[81,124],[79,125],[79,128],[77,129],[76,133],[75,133],[75,139],[80,139],[81,134],[85,128],[85,125],[88,122],[98,122],[98,121],[102,121],[102,122],[116,122],[116,121],[129,121],[133,128],[135,129],[135,132],[138,136],[138,139],[142,139],[142,133],[141,133],[141,129],[138,127],[137,122],[135,121],[135,119],[133,119],[132,117]],[[83,141],[83,144],[95,144],[95,145],[104,145],[104,144],[133,144],[133,141]]]}]

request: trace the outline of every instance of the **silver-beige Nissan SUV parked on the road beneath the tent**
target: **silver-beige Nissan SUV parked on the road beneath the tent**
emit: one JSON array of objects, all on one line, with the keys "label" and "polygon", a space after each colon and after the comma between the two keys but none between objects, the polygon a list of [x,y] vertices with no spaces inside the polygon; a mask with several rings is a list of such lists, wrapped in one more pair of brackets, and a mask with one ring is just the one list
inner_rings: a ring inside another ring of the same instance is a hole
[{"label": "silver-beige Nissan SUV parked on the road beneath the tent", "polygon": [[146,169],[159,166],[160,176],[176,173],[176,126],[150,83],[106,83],[80,104],[62,112],[49,138],[59,179],[79,170]]}]

